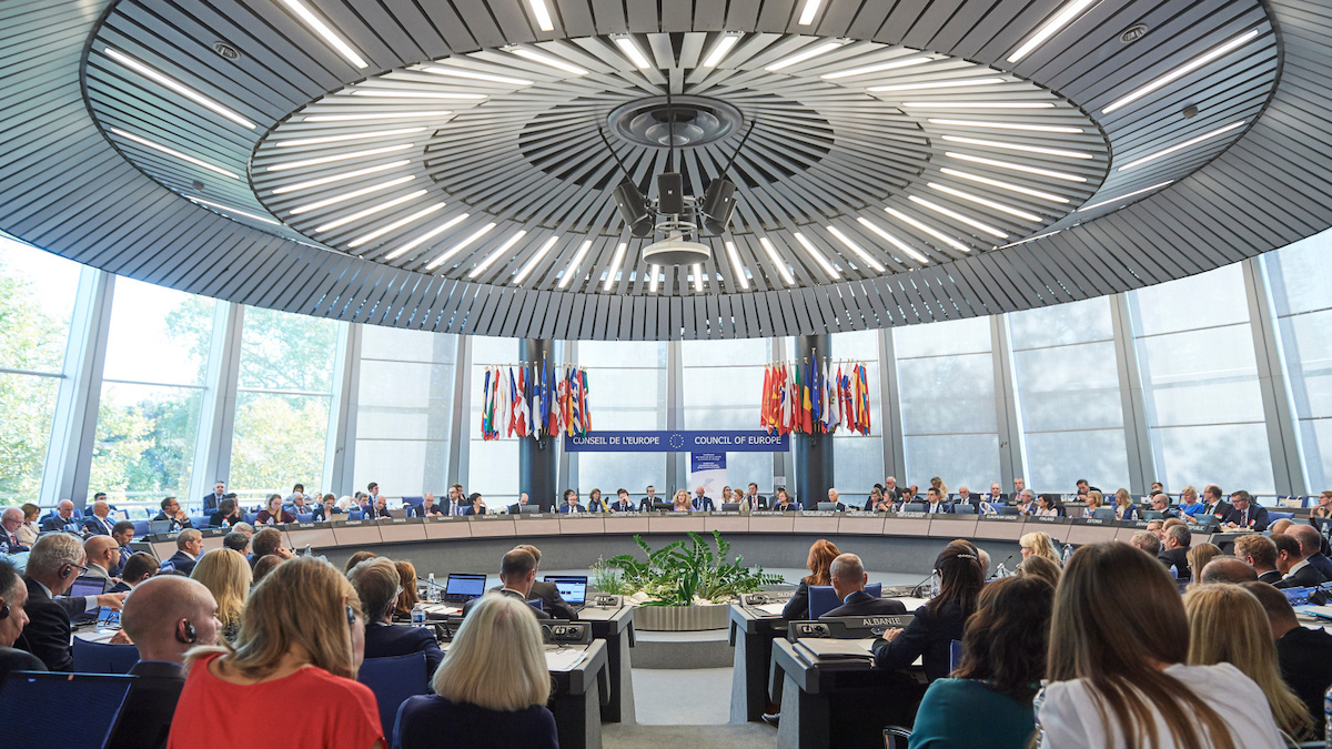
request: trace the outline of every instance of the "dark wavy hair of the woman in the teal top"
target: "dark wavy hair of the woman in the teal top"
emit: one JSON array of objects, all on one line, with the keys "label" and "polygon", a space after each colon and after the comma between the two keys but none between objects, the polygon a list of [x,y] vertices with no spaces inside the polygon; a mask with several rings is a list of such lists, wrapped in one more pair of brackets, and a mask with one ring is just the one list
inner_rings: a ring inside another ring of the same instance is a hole
[{"label": "dark wavy hair of the woman in the teal top", "polygon": [[962,633],[962,662],[952,676],[983,678],[994,690],[1030,705],[1046,676],[1055,588],[1039,577],[1007,577],[984,586]]}]

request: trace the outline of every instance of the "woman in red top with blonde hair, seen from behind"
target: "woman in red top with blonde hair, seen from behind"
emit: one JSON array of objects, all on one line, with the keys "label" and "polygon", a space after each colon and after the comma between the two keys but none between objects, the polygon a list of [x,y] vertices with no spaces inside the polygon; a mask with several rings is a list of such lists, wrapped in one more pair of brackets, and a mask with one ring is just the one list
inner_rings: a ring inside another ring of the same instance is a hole
[{"label": "woman in red top with blonde hair, seen from behind", "polygon": [[[353,681],[364,648],[346,578],[316,558],[289,560],[250,593],[234,646],[189,652],[168,749],[384,749],[374,693]],[[306,709],[258,730],[236,718],[309,694],[318,698]]]}]

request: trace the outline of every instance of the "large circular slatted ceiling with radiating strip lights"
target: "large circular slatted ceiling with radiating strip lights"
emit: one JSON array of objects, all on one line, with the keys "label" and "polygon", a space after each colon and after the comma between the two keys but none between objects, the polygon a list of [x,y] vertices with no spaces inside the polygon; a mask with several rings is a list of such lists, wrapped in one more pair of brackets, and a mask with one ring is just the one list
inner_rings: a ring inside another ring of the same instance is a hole
[{"label": "large circular slatted ceiling with radiating strip lights", "polygon": [[[1058,304],[1332,221],[1311,3],[15,0],[0,228],[196,293],[464,333]],[[735,184],[701,265],[646,263],[661,237],[611,200],[625,177],[657,199],[663,172],[691,199]]]}]

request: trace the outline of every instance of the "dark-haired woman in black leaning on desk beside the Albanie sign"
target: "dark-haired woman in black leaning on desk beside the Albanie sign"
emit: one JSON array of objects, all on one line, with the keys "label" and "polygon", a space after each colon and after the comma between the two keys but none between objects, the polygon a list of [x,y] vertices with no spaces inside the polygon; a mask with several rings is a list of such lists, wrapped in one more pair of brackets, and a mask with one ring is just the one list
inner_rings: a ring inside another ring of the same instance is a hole
[{"label": "dark-haired woman in black leaning on desk beside the Albanie sign", "polygon": [[906,629],[887,629],[874,644],[874,662],[879,668],[899,669],[924,657],[924,676],[943,678],[951,669],[954,640],[962,640],[962,628],[976,610],[976,596],[986,582],[980,557],[970,541],[952,541],[934,561],[939,572],[939,594],[915,612]]}]

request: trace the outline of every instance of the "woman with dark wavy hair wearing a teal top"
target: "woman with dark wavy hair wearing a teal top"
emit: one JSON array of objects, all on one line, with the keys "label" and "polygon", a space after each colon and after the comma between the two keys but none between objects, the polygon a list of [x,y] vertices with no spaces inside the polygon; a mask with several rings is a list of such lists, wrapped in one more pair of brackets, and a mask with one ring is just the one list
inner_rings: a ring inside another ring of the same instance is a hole
[{"label": "woman with dark wavy hair wearing a teal top", "polygon": [[1027,746],[1036,730],[1031,698],[1046,674],[1054,602],[1055,589],[1034,577],[984,586],[962,633],[958,670],[924,693],[911,749]]}]

